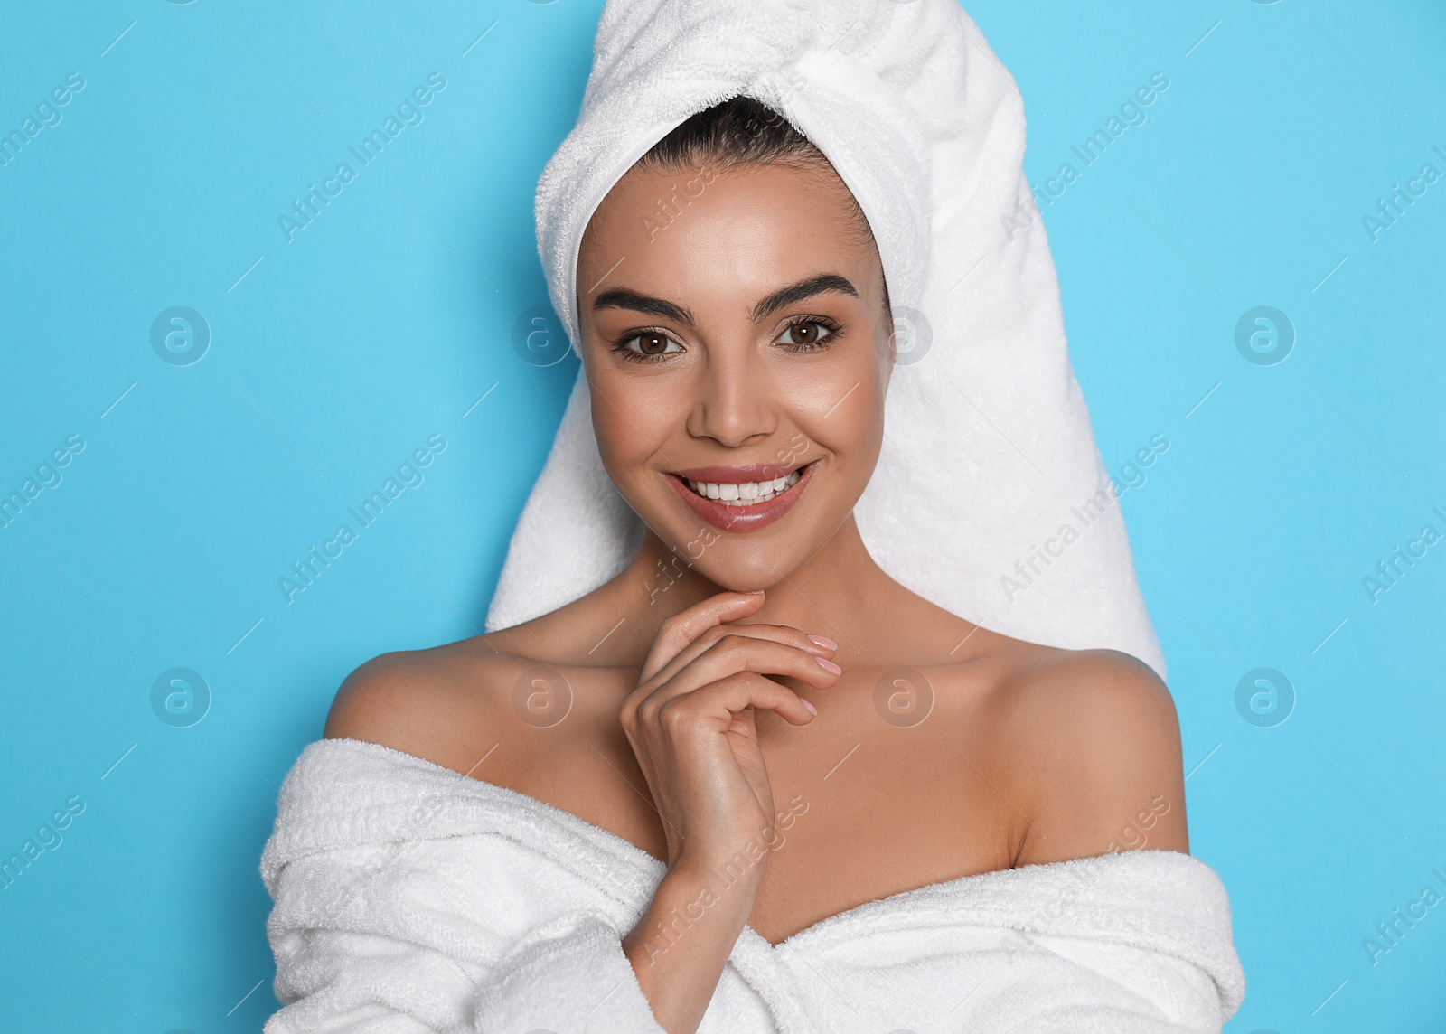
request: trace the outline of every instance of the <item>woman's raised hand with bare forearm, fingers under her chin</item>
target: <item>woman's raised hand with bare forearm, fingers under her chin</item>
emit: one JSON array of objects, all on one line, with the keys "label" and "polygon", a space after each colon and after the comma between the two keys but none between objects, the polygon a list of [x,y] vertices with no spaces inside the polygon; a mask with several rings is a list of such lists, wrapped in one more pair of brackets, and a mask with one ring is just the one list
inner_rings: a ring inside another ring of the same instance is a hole
[{"label": "woman's raised hand with bare forearm, fingers under her chin", "polygon": [[[623,950],[669,1033],[693,1031],[703,1018],[758,895],[766,853],[750,858],[774,840],[753,712],[797,726],[816,713],[766,675],[817,688],[839,681],[827,639],[782,625],[729,625],[762,604],[762,593],[720,593],[665,620],[622,707],[668,842],[668,873]],[[729,863],[735,882],[723,885],[717,873]]]}]

